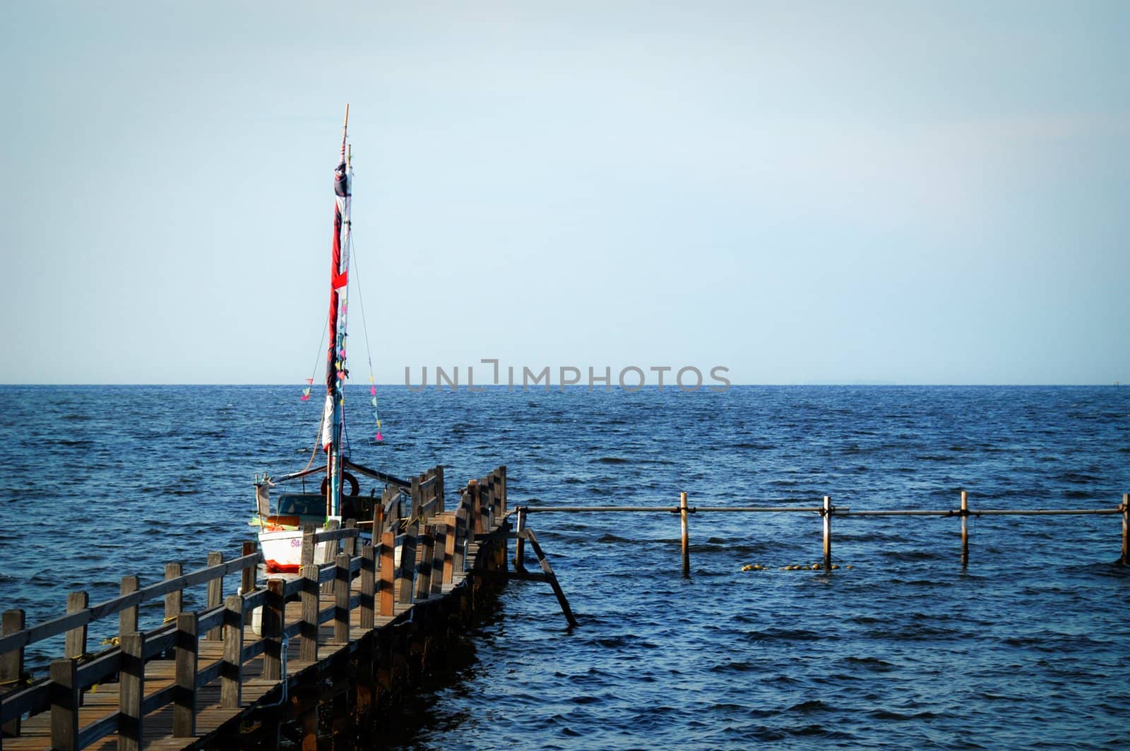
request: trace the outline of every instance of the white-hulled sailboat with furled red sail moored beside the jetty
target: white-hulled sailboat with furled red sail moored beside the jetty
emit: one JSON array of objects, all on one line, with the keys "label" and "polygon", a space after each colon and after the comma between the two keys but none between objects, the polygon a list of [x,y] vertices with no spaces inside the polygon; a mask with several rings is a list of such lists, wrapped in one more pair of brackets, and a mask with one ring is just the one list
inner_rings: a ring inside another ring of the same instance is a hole
[{"label": "white-hulled sailboat with furled red sail moored beside the jetty", "polygon": [[[359,495],[359,483],[354,472],[373,478],[401,490],[410,487],[409,482],[384,472],[379,472],[356,464],[342,451],[345,436],[345,383],[349,375],[346,369],[346,324],[348,313],[349,290],[349,233],[350,203],[353,195],[353,150],[349,148],[349,105],[346,105],[345,124],[341,128],[341,154],[338,166],[333,171],[333,241],[331,244],[330,265],[330,312],[329,312],[329,350],[325,358],[325,401],[322,408],[319,443],[325,453],[325,465],[313,466],[314,457],[306,469],[289,474],[270,478],[263,474],[255,477],[257,517],[252,524],[260,527],[259,545],[269,573],[298,571],[302,566],[303,527],[308,524],[330,526],[340,525],[342,519],[359,518],[359,514],[371,514],[368,503],[380,503],[373,497]],[[372,378],[370,378],[372,382]],[[312,384],[312,379],[307,383]],[[376,387],[370,390],[375,407]],[[303,401],[310,398],[307,387]],[[381,440],[380,422],[377,422],[377,442]],[[316,455],[318,448],[314,448]],[[323,473],[318,492],[305,492],[307,479],[315,479]],[[272,510],[270,490],[287,481],[302,481],[298,492],[287,492],[278,497]],[[348,484],[348,492],[346,491]],[[371,516],[370,516],[371,517]],[[320,542],[314,549],[315,564],[330,560],[337,552],[337,542]]]}]

